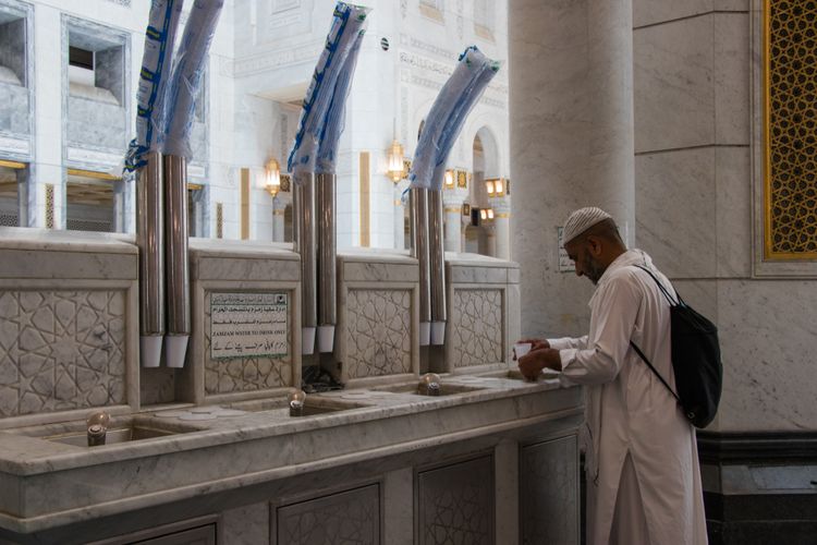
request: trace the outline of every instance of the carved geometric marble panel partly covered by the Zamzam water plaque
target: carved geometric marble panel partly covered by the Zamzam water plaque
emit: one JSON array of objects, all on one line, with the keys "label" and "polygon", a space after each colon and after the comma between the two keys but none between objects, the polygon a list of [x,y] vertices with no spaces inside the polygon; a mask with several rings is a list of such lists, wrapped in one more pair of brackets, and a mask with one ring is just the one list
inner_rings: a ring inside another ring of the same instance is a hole
[{"label": "carved geometric marble panel partly covered by the Zamzam water plaque", "polygon": [[205,393],[234,393],[292,385],[292,320],[283,358],[210,358],[210,294],[205,295]]}]

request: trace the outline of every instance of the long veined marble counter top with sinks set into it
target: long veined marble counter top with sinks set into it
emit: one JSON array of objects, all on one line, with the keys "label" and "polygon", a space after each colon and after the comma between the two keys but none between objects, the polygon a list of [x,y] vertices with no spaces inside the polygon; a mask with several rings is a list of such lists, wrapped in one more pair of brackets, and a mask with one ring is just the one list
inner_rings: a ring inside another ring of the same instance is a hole
[{"label": "long veined marble counter top with sinks set into it", "polygon": [[582,414],[581,390],[560,388],[554,379],[454,375],[444,384],[475,389],[434,398],[375,389],[328,392],[310,396],[309,402],[351,408],[302,417],[263,403],[237,405],[252,410],[206,421],[183,421],[181,415],[207,408],[174,407],[179,412],[171,417],[161,417],[168,410],[154,408],[136,417],[194,431],[94,448],[32,437],[35,428],[7,429],[0,432],[0,525],[36,532],[465,438],[514,433],[550,420],[572,417],[577,424]]}]

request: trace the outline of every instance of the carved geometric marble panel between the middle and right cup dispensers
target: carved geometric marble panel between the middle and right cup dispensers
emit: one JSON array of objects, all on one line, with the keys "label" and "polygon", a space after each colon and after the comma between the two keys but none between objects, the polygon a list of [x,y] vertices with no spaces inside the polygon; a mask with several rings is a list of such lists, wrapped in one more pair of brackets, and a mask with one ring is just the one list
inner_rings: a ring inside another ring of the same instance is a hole
[{"label": "carved geometric marble panel between the middle and right cup dispensers", "polygon": [[349,377],[411,373],[411,317],[408,290],[349,290]]}]

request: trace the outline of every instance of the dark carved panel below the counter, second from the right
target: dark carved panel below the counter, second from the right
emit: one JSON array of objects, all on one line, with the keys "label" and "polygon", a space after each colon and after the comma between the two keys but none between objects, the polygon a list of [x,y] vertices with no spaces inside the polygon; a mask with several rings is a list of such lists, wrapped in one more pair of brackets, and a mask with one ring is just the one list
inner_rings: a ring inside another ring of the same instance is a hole
[{"label": "dark carved panel below the counter, second from the right", "polygon": [[422,545],[493,543],[493,459],[484,457],[417,476]]}]

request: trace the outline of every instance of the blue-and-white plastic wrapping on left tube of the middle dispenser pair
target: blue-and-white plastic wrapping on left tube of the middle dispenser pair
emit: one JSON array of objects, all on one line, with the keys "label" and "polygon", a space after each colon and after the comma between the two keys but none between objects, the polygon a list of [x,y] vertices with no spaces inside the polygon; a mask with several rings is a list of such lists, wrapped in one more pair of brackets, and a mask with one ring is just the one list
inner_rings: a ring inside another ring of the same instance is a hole
[{"label": "blue-and-white plastic wrapping on left tube of the middle dispenser pair", "polygon": [[[327,114],[336,95],[338,80],[344,73],[350,52],[361,38],[368,12],[368,8],[345,2],[338,2],[334,8],[326,47],[318,58],[312,83],[306,90],[295,144],[288,160],[288,170],[293,174],[316,171],[320,138],[325,134]],[[351,69],[354,70],[354,64]],[[346,88],[347,85],[349,83],[344,84]],[[342,102],[344,100],[340,100],[336,109],[338,118],[342,117]],[[337,131],[338,137],[340,131],[342,129]],[[297,181],[300,178],[293,175],[293,180]]]}]

